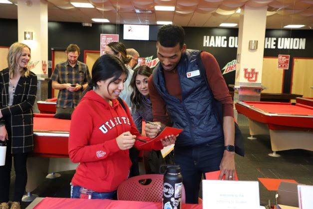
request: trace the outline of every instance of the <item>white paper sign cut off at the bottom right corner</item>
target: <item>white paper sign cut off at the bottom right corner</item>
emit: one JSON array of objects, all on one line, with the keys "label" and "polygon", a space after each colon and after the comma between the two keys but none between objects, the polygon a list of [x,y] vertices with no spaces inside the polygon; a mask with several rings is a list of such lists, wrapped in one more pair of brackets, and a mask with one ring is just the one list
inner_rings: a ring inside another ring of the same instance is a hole
[{"label": "white paper sign cut off at the bottom right corner", "polygon": [[300,209],[312,209],[313,206],[313,186],[298,185],[298,197]]}]

